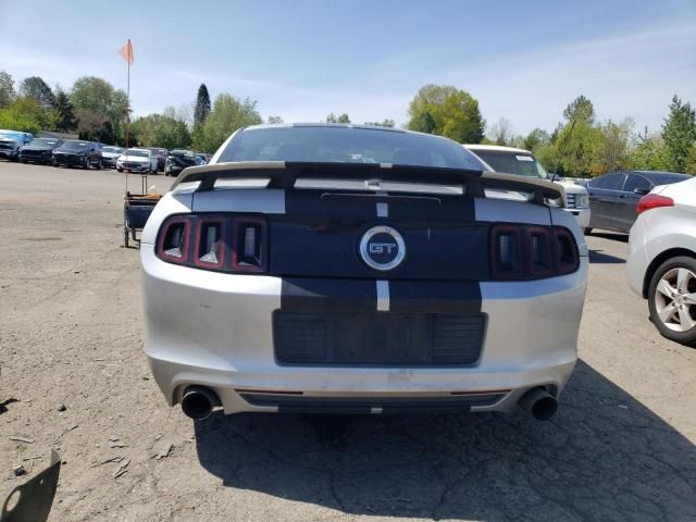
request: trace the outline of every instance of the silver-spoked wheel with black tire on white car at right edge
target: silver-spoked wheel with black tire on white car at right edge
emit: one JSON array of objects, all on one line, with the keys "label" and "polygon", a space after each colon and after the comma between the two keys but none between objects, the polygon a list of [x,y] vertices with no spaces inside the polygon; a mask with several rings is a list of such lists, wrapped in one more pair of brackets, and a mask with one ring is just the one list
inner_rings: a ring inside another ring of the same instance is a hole
[{"label": "silver-spoked wheel with black tire on white car at right edge", "polygon": [[648,287],[650,319],[668,339],[696,345],[696,259],[668,259]]}]

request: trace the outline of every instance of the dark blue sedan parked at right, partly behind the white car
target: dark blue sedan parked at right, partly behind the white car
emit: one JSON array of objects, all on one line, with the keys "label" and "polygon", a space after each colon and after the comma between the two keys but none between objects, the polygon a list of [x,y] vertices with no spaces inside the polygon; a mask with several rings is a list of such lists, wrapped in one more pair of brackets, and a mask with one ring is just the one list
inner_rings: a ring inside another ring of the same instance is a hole
[{"label": "dark blue sedan parked at right, partly behind the white car", "polygon": [[593,228],[629,233],[635,222],[635,209],[641,197],[658,185],[671,185],[691,177],[688,174],[659,171],[611,172],[595,177],[587,183],[592,214],[585,234]]}]

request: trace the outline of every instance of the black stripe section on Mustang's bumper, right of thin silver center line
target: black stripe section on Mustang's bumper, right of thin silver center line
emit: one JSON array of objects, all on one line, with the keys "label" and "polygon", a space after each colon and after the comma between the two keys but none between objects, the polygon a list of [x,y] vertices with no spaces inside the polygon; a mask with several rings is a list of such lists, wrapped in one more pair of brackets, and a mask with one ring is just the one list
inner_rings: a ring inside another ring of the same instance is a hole
[{"label": "black stripe section on Mustang's bumper, right of thin silver center line", "polygon": [[389,311],[481,313],[481,286],[474,281],[389,281]]}]

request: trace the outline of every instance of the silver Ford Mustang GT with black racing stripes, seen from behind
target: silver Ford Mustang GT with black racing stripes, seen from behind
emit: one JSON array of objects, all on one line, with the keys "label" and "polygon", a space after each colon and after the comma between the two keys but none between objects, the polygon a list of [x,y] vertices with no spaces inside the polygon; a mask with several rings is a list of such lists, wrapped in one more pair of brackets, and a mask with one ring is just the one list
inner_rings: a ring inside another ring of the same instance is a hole
[{"label": "silver Ford Mustang GT with black racing stripes, seen from behind", "polygon": [[186,169],[140,246],[167,402],[552,415],[587,247],[560,186],[482,169],[446,138],[321,124],[246,127]]}]

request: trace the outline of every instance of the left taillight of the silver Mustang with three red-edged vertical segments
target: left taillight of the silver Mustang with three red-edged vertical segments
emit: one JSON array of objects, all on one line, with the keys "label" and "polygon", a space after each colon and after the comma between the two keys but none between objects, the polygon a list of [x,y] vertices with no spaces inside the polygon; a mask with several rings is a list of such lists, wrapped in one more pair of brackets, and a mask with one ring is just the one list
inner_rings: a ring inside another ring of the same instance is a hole
[{"label": "left taillight of the silver Mustang with three red-edged vertical segments", "polygon": [[266,222],[236,214],[175,215],[160,227],[156,254],[163,261],[231,273],[263,273]]}]

